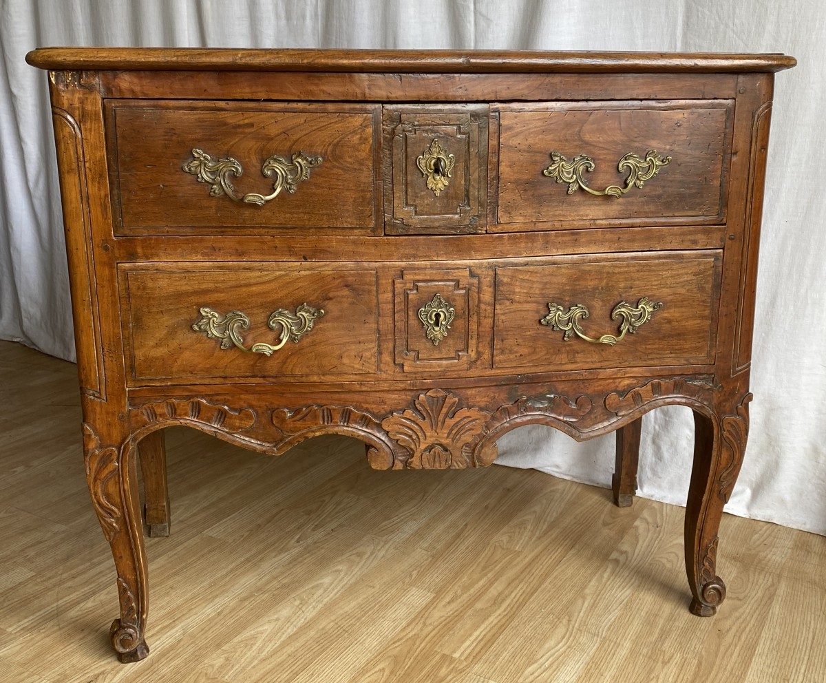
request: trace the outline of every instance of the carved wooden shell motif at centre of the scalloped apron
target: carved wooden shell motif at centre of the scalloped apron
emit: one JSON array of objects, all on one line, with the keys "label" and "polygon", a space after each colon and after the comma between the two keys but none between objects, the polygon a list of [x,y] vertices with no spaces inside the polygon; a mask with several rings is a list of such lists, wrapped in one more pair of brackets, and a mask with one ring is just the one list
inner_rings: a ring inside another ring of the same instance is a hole
[{"label": "carved wooden shell motif at centre of the scalloped apron", "polygon": [[393,413],[382,428],[411,455],[411,469],[470,467],[471,447],[482,436],[487,413],[458,408],[458,398],[431,389],[413,401],[413,409]]}]

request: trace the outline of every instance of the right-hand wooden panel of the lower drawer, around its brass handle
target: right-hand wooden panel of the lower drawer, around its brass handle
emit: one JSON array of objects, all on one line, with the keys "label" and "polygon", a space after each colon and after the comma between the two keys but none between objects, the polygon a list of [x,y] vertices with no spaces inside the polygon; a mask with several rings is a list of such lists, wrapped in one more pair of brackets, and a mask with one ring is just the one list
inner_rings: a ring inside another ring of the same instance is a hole
[{"label": "right-hand wooden panel of the lower drawer, around its brass handle", "polygon": [[494,368],[713,363],[721,261],[709,251],[497,268]]}]

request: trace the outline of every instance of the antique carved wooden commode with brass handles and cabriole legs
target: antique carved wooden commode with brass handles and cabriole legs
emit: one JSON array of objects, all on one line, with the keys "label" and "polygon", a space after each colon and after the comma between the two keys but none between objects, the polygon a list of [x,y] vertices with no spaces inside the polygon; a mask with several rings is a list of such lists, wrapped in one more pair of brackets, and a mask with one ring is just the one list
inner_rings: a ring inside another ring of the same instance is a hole
[{"label": "antique carved wooden commode with brass handles and cabriole legs", "polygon": [[[773,72],[784,55],[44,49],[121,660],[149,652],[146,522],[189,425],[377,468],[477,467],[529,423],[690,406],[691,611],[724,599],[748,434]],[[242,171],[244,172],[242,175]]]}]

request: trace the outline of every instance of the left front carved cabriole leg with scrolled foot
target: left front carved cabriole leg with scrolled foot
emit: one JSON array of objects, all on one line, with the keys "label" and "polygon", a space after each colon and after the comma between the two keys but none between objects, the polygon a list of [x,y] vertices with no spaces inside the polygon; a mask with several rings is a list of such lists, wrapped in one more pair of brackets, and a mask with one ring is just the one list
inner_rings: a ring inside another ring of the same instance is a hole
[{"label": "left front carved cabriole leg with scrolled foot", "polygon": [[84,424],[83,451],[89,493],[117,572],[121,618],[109,629],[112,647],[121,662],[138,662],[150,649],[144,639],[147,574],[135,448],[120,425],[96,430]]}]

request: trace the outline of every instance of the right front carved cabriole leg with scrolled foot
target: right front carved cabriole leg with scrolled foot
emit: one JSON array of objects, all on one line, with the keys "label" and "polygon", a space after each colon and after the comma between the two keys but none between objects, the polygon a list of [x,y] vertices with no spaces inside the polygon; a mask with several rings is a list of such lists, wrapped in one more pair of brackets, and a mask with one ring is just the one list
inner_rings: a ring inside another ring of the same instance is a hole
[{"label": "right front carved cabriole leg with scrolled foot", "polygon": [[719,401],[713,413],[694,411],[694,466],[686,504],[686,572],[693,599],[691,613],[710,617],[725,599],[717,576],[718,531],[723,506],[737,481],[748,438],[747,393]]}]

